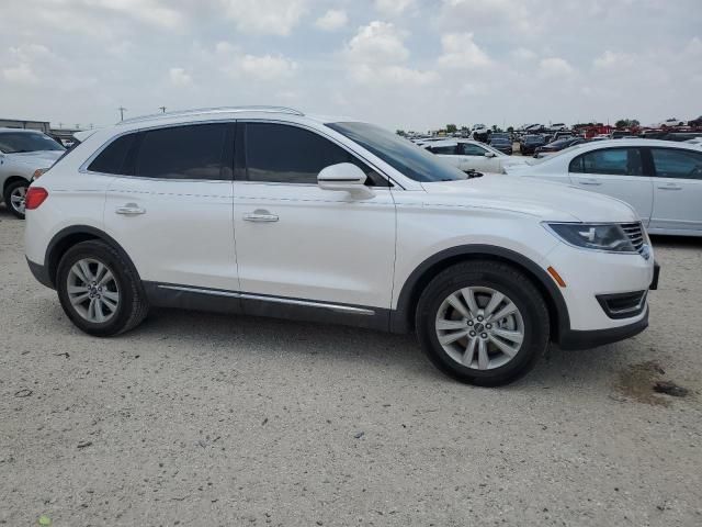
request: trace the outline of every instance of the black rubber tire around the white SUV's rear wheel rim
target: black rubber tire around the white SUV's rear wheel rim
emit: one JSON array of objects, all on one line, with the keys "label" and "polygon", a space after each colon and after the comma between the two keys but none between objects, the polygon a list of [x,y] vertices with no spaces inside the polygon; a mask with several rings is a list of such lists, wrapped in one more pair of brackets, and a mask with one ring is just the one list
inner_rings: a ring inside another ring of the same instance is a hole
[{"label": "black rubber tire around the white SUV's rear wheel rim", "polygon": [[[120,299],[114,314],[103,323],[83,318],[73,307],[68,295],[68,273],[81,259],[98,260],[114,276]],[[138,274],[131,262],[104,242],[90,240],[76,244],[66,251],[56,272],[56,290],[64,312],[83,332],[98,337],[111,337],[136,327],[148,314],[149,305]]]}]

